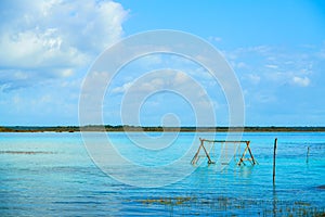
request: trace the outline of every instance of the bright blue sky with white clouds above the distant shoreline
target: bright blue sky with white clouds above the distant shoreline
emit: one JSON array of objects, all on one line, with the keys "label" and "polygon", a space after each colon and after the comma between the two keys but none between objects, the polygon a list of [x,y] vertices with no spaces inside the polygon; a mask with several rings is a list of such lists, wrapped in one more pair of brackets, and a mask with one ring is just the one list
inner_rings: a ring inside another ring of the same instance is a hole
[{"label": "bright blue sky with white clouds above the distant shoreline", "polygon": [[[190,33],[221,52],[242,87],[245,125],[325,126],[324,1],[2,0],[0,16],[1,126],[78,125],[82,81],[98,56],[156,29]],[[211,98],[217,125],[229,124],[227,101],[209,73],[164,54],[121,69],[103,102],[104,124],[134,124],[121,120],[123,95],[136,78],[159,68],[169,69],[142,85],[178,85],[199,100],[187,72]],[[195,112],[182,95],[161,92],[142,104],[139,118],[145,126],[195,126]]]}]

